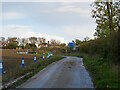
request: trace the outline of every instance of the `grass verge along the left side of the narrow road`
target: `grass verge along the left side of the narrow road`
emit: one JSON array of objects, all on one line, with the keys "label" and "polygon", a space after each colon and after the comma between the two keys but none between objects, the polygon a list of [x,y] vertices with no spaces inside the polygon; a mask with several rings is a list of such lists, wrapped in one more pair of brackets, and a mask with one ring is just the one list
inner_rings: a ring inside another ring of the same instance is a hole
[{"label": "grass verge along the left side of the narrow road", "polygon": [[[49,59],[42,60],[39,63],[33,64],[31,66],[32,73],[30,73],[29,75],[26,75],[24,78],[18,80],[17,82],[13,83],[12,85],[8,86],[7,89],[18,87],[19,85],[21,85],[26,80],[28,80],[29,78],[31,78],[32,76],[34,76],[35,74],[37,74],[40,70],[42,70],[43,68],[45,68],[49,64],[51,64],[53,62],[56,62],[56,61],[59,61],[59,60],[61,60],[63,58],[64,57],[61,57],[61,56],[53,56],[53,57],[51,57]],[[6,89],[6,88],[4,87],[3,90],[4,89]]]}]

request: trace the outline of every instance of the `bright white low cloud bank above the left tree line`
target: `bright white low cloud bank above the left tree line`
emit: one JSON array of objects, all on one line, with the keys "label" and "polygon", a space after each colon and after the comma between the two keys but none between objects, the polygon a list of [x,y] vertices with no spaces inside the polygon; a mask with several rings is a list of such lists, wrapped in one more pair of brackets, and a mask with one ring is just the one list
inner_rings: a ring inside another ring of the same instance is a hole
[{"label": "bright white low cloud bank above the left tree line", "polygon": [[51,39],[59,40],[61,43],[67,43],[63,37],[42,34],[33,32],[31,26],[22,26],[22,25],[7,25],[3,26],[2,30],[3,37],[19,37],[19,38],[29,38],[29,37],[45,37],[46,40],[50,41]]}]

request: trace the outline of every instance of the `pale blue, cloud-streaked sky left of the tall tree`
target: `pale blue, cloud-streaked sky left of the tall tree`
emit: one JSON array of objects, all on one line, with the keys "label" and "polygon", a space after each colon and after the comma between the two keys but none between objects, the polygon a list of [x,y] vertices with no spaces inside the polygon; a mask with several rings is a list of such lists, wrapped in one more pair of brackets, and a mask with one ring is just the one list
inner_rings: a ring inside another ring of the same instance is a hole
[{"label": "pale blue, cloud-streaked sky left of the tall tree", "polygon": [[93,39],[96,24],[91,17],[92,2],[3,2],[2,36],[31,36],[67,43]]}]

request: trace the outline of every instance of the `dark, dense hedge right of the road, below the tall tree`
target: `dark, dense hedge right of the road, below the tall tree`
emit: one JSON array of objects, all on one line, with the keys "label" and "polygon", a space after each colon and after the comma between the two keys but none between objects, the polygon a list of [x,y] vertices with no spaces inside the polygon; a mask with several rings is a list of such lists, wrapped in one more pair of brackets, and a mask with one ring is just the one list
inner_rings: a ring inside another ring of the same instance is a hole
[{"label": "dark, dense hedge right of the road, below the tall tree", "polygon": [[118,33],[115,32],[109,37],[97,38],[82,42],[79,47],[79,52],[87,53],[89,55],[99,55],[106,59],[110,59],[117,63],[118,57]]}]

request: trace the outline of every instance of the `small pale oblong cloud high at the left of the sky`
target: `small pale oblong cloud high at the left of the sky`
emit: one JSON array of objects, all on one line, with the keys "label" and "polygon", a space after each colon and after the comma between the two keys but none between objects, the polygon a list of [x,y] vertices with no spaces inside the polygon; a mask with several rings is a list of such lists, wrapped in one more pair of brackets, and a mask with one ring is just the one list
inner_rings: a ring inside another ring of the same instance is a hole
[{"label": "small pale oblong cloud high at the left of the sky", "polygon": [[3,13],[3,20],[11,20],[11,19],[21,19],[26,17],[26,15],[18,12],[5,12]]}]

